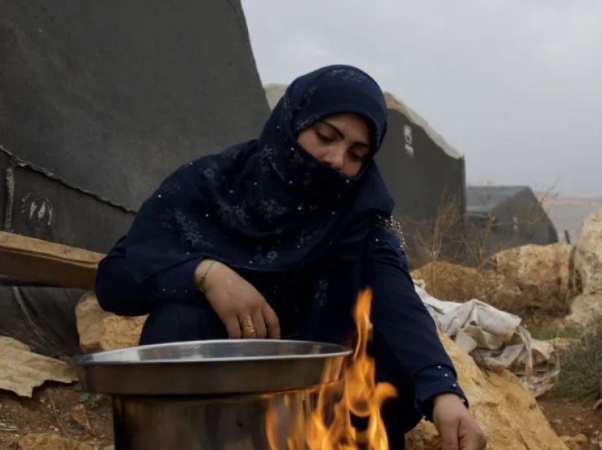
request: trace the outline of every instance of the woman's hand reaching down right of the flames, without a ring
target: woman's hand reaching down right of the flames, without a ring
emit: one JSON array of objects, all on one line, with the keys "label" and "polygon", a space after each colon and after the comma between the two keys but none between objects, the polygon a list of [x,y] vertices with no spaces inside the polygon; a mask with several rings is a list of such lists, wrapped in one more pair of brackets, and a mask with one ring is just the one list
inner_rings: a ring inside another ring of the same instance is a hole
[{"label": "woman's hand reaching down right of the flames, without a ring", "polygon": [[435,397],[433,422],[441,434],[441,450],[482,450],[487,444],[481,427],[454,393]]}]

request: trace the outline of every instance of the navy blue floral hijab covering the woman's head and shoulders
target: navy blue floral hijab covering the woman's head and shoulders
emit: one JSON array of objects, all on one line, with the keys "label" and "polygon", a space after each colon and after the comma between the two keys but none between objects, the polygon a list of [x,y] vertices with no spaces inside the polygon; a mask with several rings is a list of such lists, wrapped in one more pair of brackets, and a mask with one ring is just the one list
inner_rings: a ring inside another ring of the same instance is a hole
[{"label": "navy blue floral hijab covering the woman's head and shoulders", "polygon": [[357,258],[371,219],[394,204],[372,157],[347,177],[297,143],[300,131],[336,113],[368,121],[373,156],[387,128],[385,98],[368,74],[337,65],[295,79],[259,139],[178,168],[127,234],[135,277],[198,258],[265,272],[306,267],[326,251]]}]

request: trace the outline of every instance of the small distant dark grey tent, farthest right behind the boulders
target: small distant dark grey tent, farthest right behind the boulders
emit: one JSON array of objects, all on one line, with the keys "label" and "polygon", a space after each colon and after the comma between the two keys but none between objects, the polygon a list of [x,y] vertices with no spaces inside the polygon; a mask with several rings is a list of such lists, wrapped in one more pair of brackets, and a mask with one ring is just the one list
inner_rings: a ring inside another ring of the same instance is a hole
[{"label": "small distant dark grey tent, farthest right behind the boulders", "polygon": [[487,253],[558,242],[550,217],[528,186],[468,186],[466,222],[469,238],[482,241]]}]

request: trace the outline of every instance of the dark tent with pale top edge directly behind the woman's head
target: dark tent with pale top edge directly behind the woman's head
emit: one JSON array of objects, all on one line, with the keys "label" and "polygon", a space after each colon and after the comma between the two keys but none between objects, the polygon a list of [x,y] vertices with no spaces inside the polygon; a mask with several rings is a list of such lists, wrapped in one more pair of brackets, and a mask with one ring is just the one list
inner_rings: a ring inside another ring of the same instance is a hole
[{"label": "dark tent with pale top edge directly behind the woman's head", "polygon": [[[264,89],[273,108],[286,85],[269,83]],[[420,265],[419,233],[428,234],[424,230],[443,207],[450,209],[450,215],[456,218],[449,232],[458,236],[464,232],[465,160],[460,151],[402,100],[387,92],[385,99],[389,127],[375,159],[395,200],[394,214],[404,226],[409,260],[412,265]],[[453,245],[442,250],[443,255],[454,252]]]}]

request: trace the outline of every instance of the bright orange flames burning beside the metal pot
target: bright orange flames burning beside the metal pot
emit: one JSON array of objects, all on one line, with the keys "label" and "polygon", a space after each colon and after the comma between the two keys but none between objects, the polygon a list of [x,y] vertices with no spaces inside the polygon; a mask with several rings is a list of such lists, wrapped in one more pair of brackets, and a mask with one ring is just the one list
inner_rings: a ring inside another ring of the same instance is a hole
[{"label": "bright orange flames burning beside the metal pot", "polygon": [[[380,408],[387,398],[397,396],[389,383],[376,383],[375,362],[367,354],[370,335],[370,304],[372,293],[360,294],[353,312],[358,341],[351,362],[345,369],[343,388],[324,385],[317,396],[316,408],[310,413],[305,430],[293,427],[286,450],[388,450],[387,432],[382,422]],[[327,368],[328,370],[328,368]],[[351,414],[368,419],[368,427],[358,432],[351,425]],[[295,415],[293,415],[294,417]],[[289,416],[290,417],[290,416]],[[283,450],[276,444],[275,430],[278,414],[266,413],[266,433],[271,450]],[[305,445],[300,444],[305,440]]]}]

